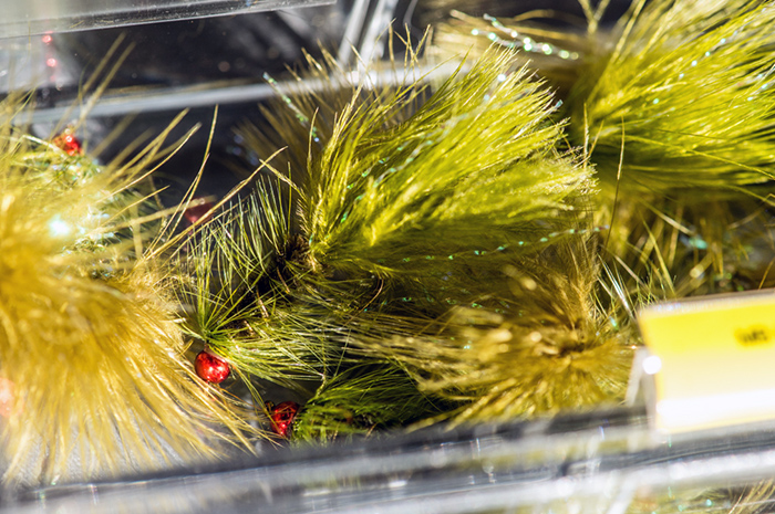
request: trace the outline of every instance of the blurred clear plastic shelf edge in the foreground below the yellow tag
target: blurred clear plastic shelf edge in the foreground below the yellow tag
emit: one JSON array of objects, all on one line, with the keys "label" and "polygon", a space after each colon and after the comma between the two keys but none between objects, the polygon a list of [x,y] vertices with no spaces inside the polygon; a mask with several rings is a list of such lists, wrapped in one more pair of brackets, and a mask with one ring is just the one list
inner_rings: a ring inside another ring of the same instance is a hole
[{"label": "blurred clear plastic shelf edge in the foreground below the yellow tag", "polygon": [[632,502],[660,491],[712,492],[775,475],[772,423],[665,438],[644,418],[642,408],[619,408],[316,450],[279,449],[225,469],[50,486],[16,497],[6,492],[1,510],[621,514],[639,512]]}]

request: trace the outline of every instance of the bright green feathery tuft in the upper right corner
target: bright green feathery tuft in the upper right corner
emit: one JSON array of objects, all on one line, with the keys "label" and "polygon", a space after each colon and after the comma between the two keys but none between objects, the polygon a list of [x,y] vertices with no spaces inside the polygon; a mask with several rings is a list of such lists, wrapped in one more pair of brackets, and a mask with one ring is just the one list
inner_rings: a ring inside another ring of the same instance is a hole
[{"label": "bright green feathery tuft in the upper right corner", "polygon": [[566,102],[571,143],[591,141],[601,181],[622,188],[769,180],[773,22],[775,10],[747,0],[637,2],[616,43],[586,55]]}]

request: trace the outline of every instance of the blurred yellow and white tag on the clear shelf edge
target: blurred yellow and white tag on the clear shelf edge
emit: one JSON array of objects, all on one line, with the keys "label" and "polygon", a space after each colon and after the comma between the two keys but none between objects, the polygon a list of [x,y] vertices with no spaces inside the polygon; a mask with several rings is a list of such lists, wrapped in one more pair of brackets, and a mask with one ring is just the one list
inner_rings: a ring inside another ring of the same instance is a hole
[{"label": "blurred yellow and white tag on the clear shelf edge", "polygon": [[671,432],[775,418],[775,291],[655,304],[638,315],[655,422]]}]

